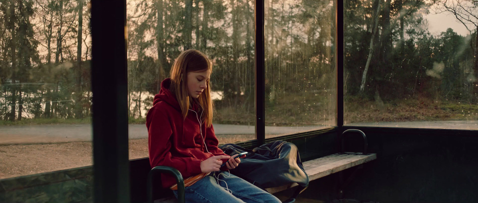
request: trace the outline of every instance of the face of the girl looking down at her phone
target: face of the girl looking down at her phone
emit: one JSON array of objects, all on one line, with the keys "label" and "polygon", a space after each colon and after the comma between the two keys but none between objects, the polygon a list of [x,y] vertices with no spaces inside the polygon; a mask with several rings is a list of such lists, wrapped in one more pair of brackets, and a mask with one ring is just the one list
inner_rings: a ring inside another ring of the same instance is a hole
[{"label": "face of the girl looking down at her phone", "polygon": [[211,71],[188,72],[187,73],[187,94],[192,98],[197,98],[207,88]]}]

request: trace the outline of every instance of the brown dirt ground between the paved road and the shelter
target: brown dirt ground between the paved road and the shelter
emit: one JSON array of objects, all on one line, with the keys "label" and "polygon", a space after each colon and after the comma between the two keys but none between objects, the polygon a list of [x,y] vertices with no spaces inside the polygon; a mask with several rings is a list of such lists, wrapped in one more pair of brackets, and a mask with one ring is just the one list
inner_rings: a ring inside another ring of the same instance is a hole
[{"label": "brown dirt ground between the paved road and the shelter", "polygon": [[[130,140],[130,159],[148,157],[148,139]],[[0,179],[93,165],[91,142],[0,145]]]}]

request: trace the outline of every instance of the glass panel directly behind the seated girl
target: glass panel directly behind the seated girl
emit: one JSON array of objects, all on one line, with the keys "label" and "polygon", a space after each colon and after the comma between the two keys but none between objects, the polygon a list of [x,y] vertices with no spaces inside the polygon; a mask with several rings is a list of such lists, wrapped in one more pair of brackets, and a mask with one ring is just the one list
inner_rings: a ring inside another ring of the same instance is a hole
[{"label": "glass panel directly behind the seated girl", "polygon": [[127,1],[130,159],[148,157],[146,114],[189,48],[213,63],[219,144],[255,139],[253,8],[252,0]]}]

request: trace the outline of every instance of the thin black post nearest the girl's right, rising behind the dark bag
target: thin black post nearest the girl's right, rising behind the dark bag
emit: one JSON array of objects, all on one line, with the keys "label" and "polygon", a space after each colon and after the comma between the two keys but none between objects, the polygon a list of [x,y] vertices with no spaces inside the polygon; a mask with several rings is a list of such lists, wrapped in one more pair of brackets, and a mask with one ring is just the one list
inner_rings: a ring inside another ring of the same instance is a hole
[{"label": "thin black post nearest the girl's right, rising behind the dark bag", "polygon": [[254,7],[256,25],[255,64],[256,64],[256,138],[259,145],[265,143],[265,55],[264,55],[264,0],[256,0]]}]

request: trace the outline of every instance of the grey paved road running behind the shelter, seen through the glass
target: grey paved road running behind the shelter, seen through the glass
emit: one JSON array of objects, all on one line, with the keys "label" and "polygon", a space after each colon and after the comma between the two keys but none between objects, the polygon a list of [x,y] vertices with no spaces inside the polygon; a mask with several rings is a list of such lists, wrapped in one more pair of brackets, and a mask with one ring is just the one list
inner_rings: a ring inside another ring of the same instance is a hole
[{"label": "grey paved road running behind the shelter, seen through the glass", "polygon": [[[354,126],[381,126],[399,128],[445,128],[445,129],[475,129],[478,121],[413,121],[413,122],[380,122],[354,123]],[[281,135],[295,132],[310,131],[326,127],[325,125],[306,127],[269,127],[266,134]],[[217,135],[254,134],[254,126],[215,124]],[[91,125],[34,125],[34,126],[0,126],[0,144],[17,143],[52,143],[70,141],[91,141]],[[146,126],[143,124],[129,125],[129,138],[148,138]]]}]

